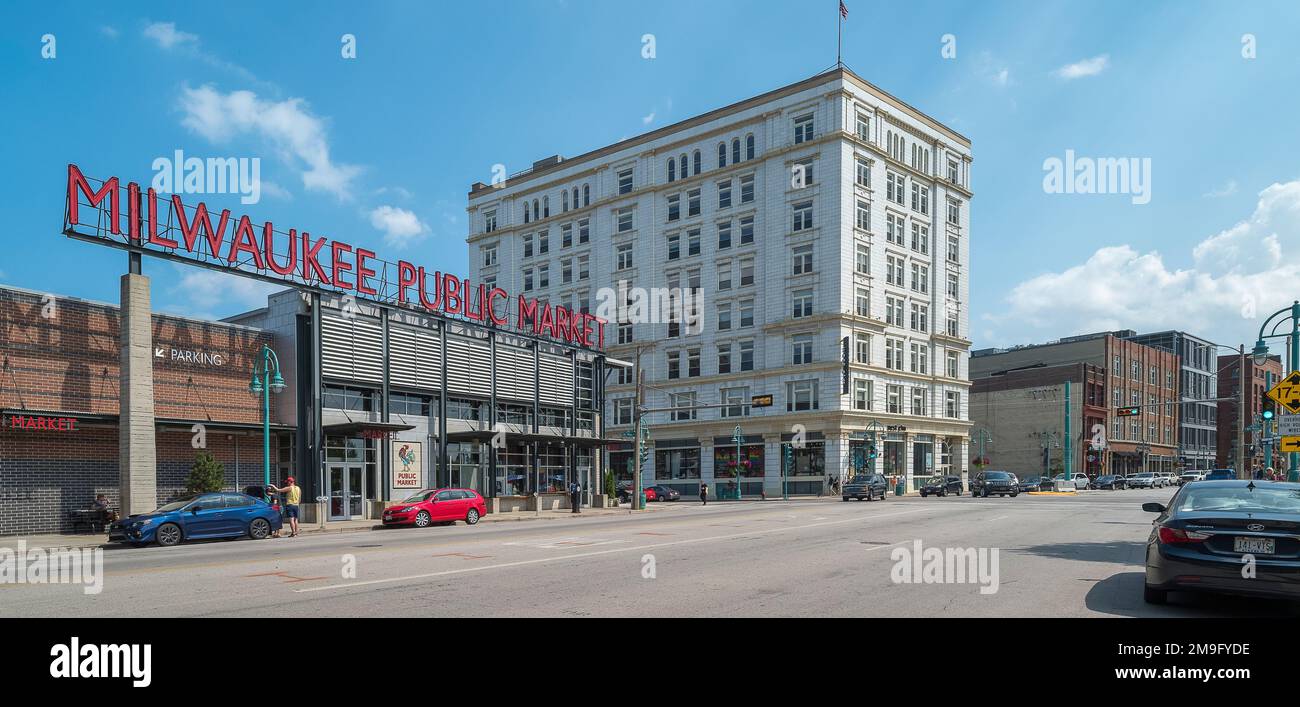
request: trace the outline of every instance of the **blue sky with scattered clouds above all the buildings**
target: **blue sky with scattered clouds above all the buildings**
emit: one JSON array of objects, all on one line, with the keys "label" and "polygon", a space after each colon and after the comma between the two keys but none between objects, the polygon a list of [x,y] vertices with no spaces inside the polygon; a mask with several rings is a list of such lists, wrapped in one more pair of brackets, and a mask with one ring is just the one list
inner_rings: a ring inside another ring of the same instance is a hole
[{"label": "blue sky with scattered clouds above all the buildings", "polygon": [[[974,142],[976,347],[1109,328],[1251,343],[1300,296],[1300,5],[846,4],[845,62]],[[465,192],[494,164],[516,172],[792,83],[836,48],[833,0],[46,3],[8,16],[0,282],[108,302],[125,256],[58,234],[68,162],[144,183],[176,149],[257,156],[260,204],[207,200],[465,272]],[[239,100],[243,120],[213,110]],[[1046,194],[1044,160],[1067,149],[1149,159],[1150,201]],[[251,281],[146,272],[160,309],[263,302]]]}]

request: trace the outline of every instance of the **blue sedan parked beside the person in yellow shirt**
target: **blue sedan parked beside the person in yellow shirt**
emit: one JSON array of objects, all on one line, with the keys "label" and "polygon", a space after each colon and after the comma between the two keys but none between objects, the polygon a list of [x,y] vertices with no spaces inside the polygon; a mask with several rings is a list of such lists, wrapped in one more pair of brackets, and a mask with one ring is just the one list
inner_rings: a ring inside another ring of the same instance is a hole
[{"label": "blue sedan parked beside the person in yellow shirt", "polygon": [[182,541],[250,537],[264,539],[280,530],[280,512],[244,494],[194,494],[161,508],[125,517],[108,526],[109,542],[164,547]]}]

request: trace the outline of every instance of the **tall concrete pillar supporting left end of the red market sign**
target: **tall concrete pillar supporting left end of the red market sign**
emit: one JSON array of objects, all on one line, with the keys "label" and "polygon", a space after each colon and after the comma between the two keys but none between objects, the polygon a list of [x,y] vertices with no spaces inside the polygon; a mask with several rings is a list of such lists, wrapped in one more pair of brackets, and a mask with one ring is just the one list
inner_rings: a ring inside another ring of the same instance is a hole
[{"label": "tall concrete pillar supporting left end of the red market sign", "polygon": [[153,435],[153,320],[150,278],[122,276],[121,404],[117,469],[122,516],[157,508],[157,446]]}]

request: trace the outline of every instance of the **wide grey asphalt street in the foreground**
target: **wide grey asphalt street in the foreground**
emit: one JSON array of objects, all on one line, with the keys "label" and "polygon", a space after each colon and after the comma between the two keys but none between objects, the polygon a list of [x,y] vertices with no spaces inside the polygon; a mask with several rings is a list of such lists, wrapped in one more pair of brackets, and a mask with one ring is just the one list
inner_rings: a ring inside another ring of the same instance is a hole
[{"label": "wide grey asphalt street in the foreground", "polygon": [[[1283,603],[1236,598],[1143,602],[1153,516],[1140,506],[1173,493],[682,500],[560,521],[114,546],[104,551],[101,593],[0,585],[0,616],[1286,615]],[[927,582],[919,569],[898,569],[918,541],[983,550],[989,572],[996,550],[996,574]]]}]

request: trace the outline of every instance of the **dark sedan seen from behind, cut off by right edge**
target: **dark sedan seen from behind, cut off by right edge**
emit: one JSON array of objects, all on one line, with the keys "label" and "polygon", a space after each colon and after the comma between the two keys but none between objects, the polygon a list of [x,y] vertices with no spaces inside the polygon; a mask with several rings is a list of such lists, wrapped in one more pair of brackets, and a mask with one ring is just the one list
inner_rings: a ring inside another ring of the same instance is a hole
[{"label": "dark sedan seen from behind, cut off by right edge", "polygon": [[[1143,598],[1210,591],[1300,602],[1300,483],[1205,481],[1182,487],[1147,538]],[[1254,573],[1243,577],[1247,556]]]}]

